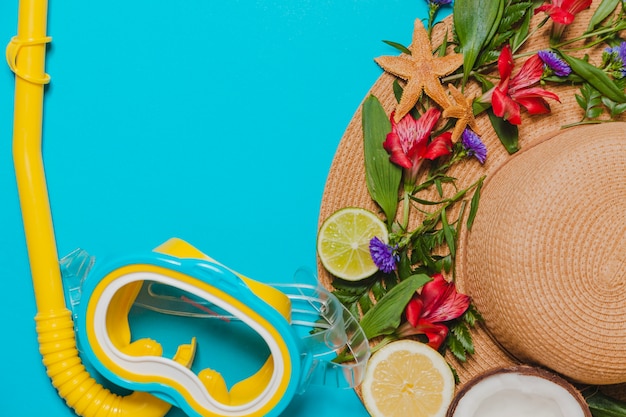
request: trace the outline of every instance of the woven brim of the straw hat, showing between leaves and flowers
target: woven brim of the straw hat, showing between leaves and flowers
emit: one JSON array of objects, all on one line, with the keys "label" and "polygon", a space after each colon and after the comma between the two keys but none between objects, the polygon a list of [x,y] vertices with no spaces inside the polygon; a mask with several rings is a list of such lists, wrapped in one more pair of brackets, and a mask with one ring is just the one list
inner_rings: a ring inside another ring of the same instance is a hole
[{"label": "woven brim of the straw hat, showing between leaves and flowers", "polygon": [[[594,1],[590,9],[581,12],[574,24],[567,28],[567,31],[570,33],[582,33],[599,3],[599,1]],[[535,16],[534,23],[537,23],[541,18],[543,16]],[[441,42],[444,34],[450,33],[452,17],[444,19],[442,23],[433,32],[433,45],[435,46]],[[547,24],[534,33],[524,49],[545,48],[545,40],[549,37],[549,30],[550,25]],[[592,62],[600,62],[602,47],[585,52],[589,54]],[[370,94],[376,96],[387,114],[390,114],[396,105],[396,99],[393,94],[394,80],[395,77],[384,73],[367,94],[367,96]],[[478,86],[470,86],[469,91],[471,91],[471,88],[477,90]],[[575,123],[581,119],[582,110],[576,103],[575,98],[578,88],[571,85],[550,86],[550,91],[555,92],[560,97],[561,102],[554,103],[549,114],[532,117],[523,115],[523,123],[519,126],[519,144],[522,149],[531,148],[541,141],[557,136],[561,132],[563,125]],[[481,138],[489,150],[489,156],[484,165],[480,165],[477,161],[468,160],[453,168],[450,175],[457,178],[459,188],[468,186],[482,175],[486,175],[488,179],[510,158],[517,156],[517,154],[508,154],[500,144],[486,115],[479,116],[477,123],[481,128]],[[366,186],[361,126],[361,106],[359,106],[339,143],[328,174],[320,207],[320,224],[334,211],[343,207],[357,206],[374,212],[380,211],[370,198]],[[461,236],[459,240],[461,245],[463,244],[463,239],[464,237]],[[464,292],[466,285],[463,282],[462,268],[460,271],[457,270],[457,273],[457,285],[459,290]],[[318,275],[322,285],[332,290],[333,277],[328,274],[319,262]],[[472,294],[468,295],[471,296]],[[475,376],[494,368],[520,364],[519,360],[512,357],[505,349],[499,346],[495,339],[490,336],[487,326],[484,324],[479,324],[472,330],[472,338],[475,345],[475,354],[469,357],[466,362],[459,362],[452,355],[447,356],[448,361],[458,373],[460,386],[463,386],[463,384]],[[626,384],[605,386],[603,390],[610,395],[626,399]]]}]

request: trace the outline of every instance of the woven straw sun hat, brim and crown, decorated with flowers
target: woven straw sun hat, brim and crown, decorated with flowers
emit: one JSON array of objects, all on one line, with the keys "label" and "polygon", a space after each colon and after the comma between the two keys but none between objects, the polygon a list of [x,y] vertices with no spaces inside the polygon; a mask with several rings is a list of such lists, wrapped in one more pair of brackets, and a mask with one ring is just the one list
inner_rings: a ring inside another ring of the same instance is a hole
[{"label": "woven straw sun hat, brim and crown, decorated with flowers", "polygon": [[[599,3],[566,34],[582,33]],[[449,28],[451,17],[444,23]],[[547,24],[537,31],[525,50],[545,48],[549,30]],[[436,27],[434,45],[444,33],[444,25]],[[585,52],[599,63],[602,49]],[[370,91],[387,114],[396,103],[393,80],[383,74]],[[521,151],[509,155],[481,115],[487,162],[468,160],[450,172],[459,188],[487,176],[456,261],[458,289],[472,297],[485,323],[473,330],[476,353],[467,362],[447,359],[461,385],[490,369],[526,363],[572,382],[605,385],[626,399],[626,385],[616,384],[626,382],[626,123],[561,129],[582,117],[578,87],[549,90],[561,103],[547,115],[522,115]],[[320,224],[342,207],[378,211],[366,187],[362,142],[359,108],[334,157]],[[332,289],[321,264],[318,272]]]}]

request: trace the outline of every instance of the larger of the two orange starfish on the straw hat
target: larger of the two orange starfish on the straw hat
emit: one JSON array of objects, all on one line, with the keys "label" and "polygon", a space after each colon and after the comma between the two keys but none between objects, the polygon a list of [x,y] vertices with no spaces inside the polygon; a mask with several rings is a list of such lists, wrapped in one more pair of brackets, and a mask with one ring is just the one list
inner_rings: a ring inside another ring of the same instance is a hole
[{"label": "larger of the two orange starfish on the straw hat", "polygon": [[440,77],[446,76],[463,64],[463,55],[450,53],[434,57],[428,33],[420,19],[415,20],[411,54],[381,56],[375,59],[385,71],[406,80],[400,103],[396,106],[394,119],[400,121],[417,103],[422,91],[442,108],[450,105]]}]

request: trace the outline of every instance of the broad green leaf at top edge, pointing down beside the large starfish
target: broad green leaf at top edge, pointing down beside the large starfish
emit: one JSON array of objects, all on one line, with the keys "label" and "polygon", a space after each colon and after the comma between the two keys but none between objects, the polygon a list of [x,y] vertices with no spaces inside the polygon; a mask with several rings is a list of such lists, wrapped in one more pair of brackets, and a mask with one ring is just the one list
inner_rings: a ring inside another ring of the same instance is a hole
[{"label": "broad green leaf at top edge, pointing down beside the large starfish", "polygon": [[454,30],[459,39],[459,52],[463,54],[463,84],[481,50],[496,33],[503,12],[504,0],[455,0]]}]

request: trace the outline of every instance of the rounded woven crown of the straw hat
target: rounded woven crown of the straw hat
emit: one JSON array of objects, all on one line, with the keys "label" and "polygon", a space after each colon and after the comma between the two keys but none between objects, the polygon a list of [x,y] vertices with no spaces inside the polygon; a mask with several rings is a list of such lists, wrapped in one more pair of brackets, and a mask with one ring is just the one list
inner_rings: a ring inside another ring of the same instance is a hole
[{"label": "rounded woven crown of the straw hat", "polygon": [[562,131],[488,178],[460,279],[507,351],[626,382],[625,217],[624,123]]}]

